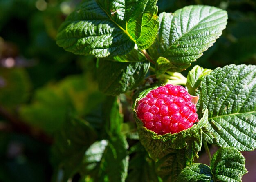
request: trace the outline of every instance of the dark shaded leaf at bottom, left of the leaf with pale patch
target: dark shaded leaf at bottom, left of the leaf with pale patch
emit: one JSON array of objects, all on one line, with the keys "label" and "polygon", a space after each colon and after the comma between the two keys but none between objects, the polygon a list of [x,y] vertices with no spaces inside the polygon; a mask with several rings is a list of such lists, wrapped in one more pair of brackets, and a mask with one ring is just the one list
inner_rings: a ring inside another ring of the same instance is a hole
[{"label": "dark shaded leaf at bottom, left of the leaf with pale patch", "polygon": [[96,132],[84,120],[73,118],[65,122],[63,128],[56,133],[52,146],[54,178],[58,178],[58,173],[62,173],[62,179],[59,181],[67,181],[77,173],[85,151],[96,137]]}]

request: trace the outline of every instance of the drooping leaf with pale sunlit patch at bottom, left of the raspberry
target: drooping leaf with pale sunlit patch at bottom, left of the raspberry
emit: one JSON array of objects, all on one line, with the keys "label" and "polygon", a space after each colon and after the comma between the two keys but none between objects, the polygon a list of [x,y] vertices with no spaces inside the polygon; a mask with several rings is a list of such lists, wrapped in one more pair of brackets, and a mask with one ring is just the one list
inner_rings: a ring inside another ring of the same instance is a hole
[{"label": "drooping leaf with pale sunlit patch at bottom, left of the raspberry", "polygon": [[94,142],[85,152],[81,177],[95,181],[124,182],[128,172],[128,143],[123,135]]}]

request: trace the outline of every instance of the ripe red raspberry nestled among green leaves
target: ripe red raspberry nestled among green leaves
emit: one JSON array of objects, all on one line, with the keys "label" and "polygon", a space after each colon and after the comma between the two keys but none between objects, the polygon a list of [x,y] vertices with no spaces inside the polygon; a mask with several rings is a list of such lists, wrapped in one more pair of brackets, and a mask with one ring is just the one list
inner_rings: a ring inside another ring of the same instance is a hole
[{"label": "ripe red raspberry nestled among green leaves", "polygon": [[159,135],[178,133],[198,121],[191,95],[171,84],[150,91],[138,102],[136,112],[144,126]]}]

